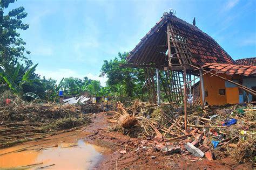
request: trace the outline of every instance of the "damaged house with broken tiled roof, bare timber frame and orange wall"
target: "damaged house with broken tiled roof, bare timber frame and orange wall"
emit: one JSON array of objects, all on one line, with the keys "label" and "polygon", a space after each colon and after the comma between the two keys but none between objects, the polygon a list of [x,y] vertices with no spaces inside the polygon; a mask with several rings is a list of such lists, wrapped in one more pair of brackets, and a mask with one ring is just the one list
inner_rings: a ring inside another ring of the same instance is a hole
[{"label": "damaged house with broken tiled roof, bare timber frame and orange wall", "polygon": [[160,103],[160,91],[169,102],[185,105],[255,101],[255,62],[234,61],[195,19],[188,24],[172,12],[164,13],[122,67],[144,68],[154,104]]}]

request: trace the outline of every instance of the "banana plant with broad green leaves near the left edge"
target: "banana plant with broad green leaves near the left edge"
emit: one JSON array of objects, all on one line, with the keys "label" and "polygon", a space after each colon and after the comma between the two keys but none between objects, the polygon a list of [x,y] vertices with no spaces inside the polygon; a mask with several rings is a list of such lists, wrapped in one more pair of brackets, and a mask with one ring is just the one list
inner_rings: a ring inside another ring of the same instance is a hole
[{"label": "banana plant with broad green leaves near the left edge", "polygon": [[21,65],[19,64],[14,69],[14,72],[11,72],[8,69],[4,70],[3,68],[0,68],[0,76],[5,81],[5,83],[8,84],[10,90],[14,94],[17,94],[19,96],[30,96],[38,99],[39,96],[37,96],[35,93],[23,94],[23,86],[25,84],[30,86],[37,86],[35,82],[38,81],[38,79],[31,79],[31,75],[35,72],[37,65],[38,63],[35,66],[31,67],[28,71],[26,71],[21,79],[19,79],[18,77],[19,72],[21,71]]}]

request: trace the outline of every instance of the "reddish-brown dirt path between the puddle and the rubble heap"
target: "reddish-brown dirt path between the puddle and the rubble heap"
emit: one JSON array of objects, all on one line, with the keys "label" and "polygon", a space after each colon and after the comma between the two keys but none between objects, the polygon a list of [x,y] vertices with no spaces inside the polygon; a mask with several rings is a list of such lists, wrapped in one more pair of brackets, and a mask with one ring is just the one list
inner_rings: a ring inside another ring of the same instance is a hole
[{"label": "reddish-brown dirt path between the puddle and the rubble heap", "polygon": [[[96,115],[92,119],[93,123],[87,126],[87,135],[83,140],[99,146],[109,147],[113,150],[112,154],[106,154],[104,159],[95,167],[97,169],[253,169],[251,163],[237,165],[231,159],[208,161],[203,158],[197,160],[192,155],[163,155],[156,151],[153,145],[148,144],[143,147],[142,139],[130,138],[122,133],[110,132],[109,126],[114,124],[107,123],[107,118],[111,118],[104,113]],[[126,153],[121,154],[120,151]],[[196,161],[195,161],[196,160]]]}]

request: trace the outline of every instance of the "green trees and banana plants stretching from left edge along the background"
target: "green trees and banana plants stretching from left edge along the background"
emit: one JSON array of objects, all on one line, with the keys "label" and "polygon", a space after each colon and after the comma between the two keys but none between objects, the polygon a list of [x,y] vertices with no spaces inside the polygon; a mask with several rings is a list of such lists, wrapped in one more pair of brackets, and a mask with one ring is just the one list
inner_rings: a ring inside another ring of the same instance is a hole
[{"label": "green trees and banana plants stretching from left edge along the background", "polygon": [[[109,89],[100,86],[100,82],[78,78],[63,78],[59,84],[56,80],[45,77],[40,79],[33,67],[32,61],[26,57],[26,44],[20,37],[19,31],[29,28],[22,19],[27,16],[23,6],[12,9],[10,4],[15,0],[0,0],[0,89],[11,90],[12,93],[23,97],[44,98],[48,101],[57,101],[58,91],[64,90],[65,95],[80,95],[85,91],[93,96],[107,95]],[[24,64],[21,65],[20,62]]]}]

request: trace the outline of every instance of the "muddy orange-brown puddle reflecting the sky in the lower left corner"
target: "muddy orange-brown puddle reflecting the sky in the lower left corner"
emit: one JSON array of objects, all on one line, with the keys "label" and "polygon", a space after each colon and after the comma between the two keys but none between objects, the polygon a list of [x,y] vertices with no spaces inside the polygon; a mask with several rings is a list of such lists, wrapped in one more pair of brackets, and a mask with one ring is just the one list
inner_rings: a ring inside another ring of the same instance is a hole
[{"label": "muddy orange-brown puddle reflecting the sky in the lower left corner", "polygon": [[[75,138],[73,136],[71,138]],[[57,144],[57,145],[56,145]],[[49,169],[87,169],[93,168],[103,158],[103,153],[110,151],[78,140],[75,143],[58,141],[46,145],[18,145],[0,150],[0,168],[29,168],[49,166]],[[28,148],[25,148],[28,147]],[[21,150],[25,148],[25,150]],[[20,152],[12,152],[21,150]],[[42,164],[40,164],[42,163]],[[32,165],[39,164],[39,165]],[[55,164],[55,165],[53,165]],[[31,165],[31,166],[28,166]],[[26,167],[21,167],[26,166]]]}]

